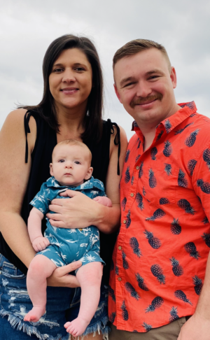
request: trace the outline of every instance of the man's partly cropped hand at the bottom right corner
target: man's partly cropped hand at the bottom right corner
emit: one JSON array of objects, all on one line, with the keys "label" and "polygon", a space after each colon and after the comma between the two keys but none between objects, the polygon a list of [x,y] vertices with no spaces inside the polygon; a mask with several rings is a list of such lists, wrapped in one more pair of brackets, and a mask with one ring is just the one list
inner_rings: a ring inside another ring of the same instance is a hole
[{"label": "man's partly cropped hand at the bottom right corner", "polygon": [[193,316],[181,327],[177,340],[209,340],[210,320],[195,312]]}]

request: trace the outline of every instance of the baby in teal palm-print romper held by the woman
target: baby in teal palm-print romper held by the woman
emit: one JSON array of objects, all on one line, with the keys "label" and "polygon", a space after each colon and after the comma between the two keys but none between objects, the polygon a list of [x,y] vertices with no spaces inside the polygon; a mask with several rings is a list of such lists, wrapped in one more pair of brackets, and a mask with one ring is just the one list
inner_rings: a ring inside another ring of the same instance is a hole
[{"label": "baby in teal palm-print romper held by the woman", "polygon": [[27,274],[27,290],[33,308],[24,320],[35,323],[45,313],[47,278],[52,272],[57,267],[80,260],[83,265],[76,271],[81,287],[80,311],[75,320],[64,325],[74,337],[85,332],[99,304],[104,264],[99,256],[99,230],[92,225],[85,229],[52,227],[47,219],[43,237],[41,220],[48,212],[52,199],[66,198],[59,196],[59,193],[69,188],[83,192],[100,204],[112,206],[103,183],[92,177],[91,159],[89,148],[80,141],[69,139],[58,143],[50,163],[52,177],[43,183],[40,192],[31,201],[33,208],[28,220],[29,237],[38,253],[31,261]]}]

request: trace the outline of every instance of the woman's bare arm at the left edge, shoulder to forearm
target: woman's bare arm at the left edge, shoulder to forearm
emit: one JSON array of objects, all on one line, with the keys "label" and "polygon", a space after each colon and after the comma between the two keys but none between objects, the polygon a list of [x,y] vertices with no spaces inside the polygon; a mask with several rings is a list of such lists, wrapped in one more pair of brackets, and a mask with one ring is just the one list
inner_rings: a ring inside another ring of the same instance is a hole
[{"label": "woman's bare arm at the left edge, shoulder to forearm", "polygon": [[25,112],[23,109],[11,112],[0,132],[0,231],[15,255],[28,267],[35,252],[20,211],[31,169],[36,122],[34,118],[30,120],[29,160],[25,164]]}]

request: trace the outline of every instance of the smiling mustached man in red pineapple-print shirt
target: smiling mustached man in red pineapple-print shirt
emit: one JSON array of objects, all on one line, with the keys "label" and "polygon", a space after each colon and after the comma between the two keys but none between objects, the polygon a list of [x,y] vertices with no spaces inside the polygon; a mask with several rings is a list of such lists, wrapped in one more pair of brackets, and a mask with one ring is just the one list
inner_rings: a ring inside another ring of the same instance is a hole
[{"label": "smiling mustached man in red pineapple-print shirt", "polygon": [[210,120],[194,102],[176,104],[162,45],[127,43],[113,71],[136,134],[120,183],[110,339],[210,339]]}]

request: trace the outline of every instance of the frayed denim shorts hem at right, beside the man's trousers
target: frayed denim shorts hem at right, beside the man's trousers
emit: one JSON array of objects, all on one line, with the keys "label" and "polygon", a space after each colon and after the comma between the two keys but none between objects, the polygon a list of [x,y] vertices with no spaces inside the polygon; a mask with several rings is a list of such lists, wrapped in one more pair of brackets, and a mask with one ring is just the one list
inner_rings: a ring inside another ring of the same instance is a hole
[{"label": "frayed denim shorts hem at right, beside the man's trousers", "polygon": [[[99,320],[97,323],[95,323],[92,326],[87,326],[87,329],[85,330],[85,333],[80,335],[80,337],[73,337],[71,334],[69,335],[69,340],[83,340],[86,335],[92,334],[92,337],[95,337],[97,332],[98,334],[101,334],[102,332],[103,339],[109,340],[109,332],[111,332],[111,329],[109,326],[107,326],[107,323],[109,321],[108,316],[104,316],[102,320]],[[85,340],[85,339],[84,339]]]}]

